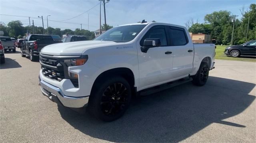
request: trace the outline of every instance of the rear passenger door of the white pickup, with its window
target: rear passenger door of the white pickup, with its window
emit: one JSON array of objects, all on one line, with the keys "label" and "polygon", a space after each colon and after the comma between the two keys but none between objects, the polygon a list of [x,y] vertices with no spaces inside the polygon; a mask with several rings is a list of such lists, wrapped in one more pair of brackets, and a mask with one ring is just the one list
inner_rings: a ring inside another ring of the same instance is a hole
[{"label": "rear passenger door of the white pickup, with its window", "polygon": [[194,45],[188,41],[185,29],[173,26],[168,29],[173,48],[172,78],[186,76],[192,72]]}]

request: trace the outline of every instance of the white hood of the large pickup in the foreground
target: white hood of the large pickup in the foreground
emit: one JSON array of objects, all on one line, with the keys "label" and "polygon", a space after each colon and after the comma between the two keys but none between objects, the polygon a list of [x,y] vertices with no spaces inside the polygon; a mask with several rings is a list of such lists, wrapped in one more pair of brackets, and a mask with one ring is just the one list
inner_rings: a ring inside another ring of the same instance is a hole
[{"label": "white hood of the large pickup in the foreground", "polygon": [[57,43],[45,46],[41,49],[42,54],[46,55],[82,55],[82,53],[91,48],[95,47],[106,47],[111,45],[120,45],[113,41],[78,41],[78,42],[67,42]]}]

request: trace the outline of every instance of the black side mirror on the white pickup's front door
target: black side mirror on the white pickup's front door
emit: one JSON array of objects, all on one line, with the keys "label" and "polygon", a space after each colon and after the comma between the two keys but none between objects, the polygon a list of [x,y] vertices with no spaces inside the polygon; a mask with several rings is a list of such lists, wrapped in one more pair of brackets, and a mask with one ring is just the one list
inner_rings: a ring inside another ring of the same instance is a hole
[{"label": "black side mirror on the white pickup's front door", "polygon": [[148,38],[144,40],[143,47],[140,47],[143,53],[147,53],[149,48],[159,47],[161,45],[159,38]]}]

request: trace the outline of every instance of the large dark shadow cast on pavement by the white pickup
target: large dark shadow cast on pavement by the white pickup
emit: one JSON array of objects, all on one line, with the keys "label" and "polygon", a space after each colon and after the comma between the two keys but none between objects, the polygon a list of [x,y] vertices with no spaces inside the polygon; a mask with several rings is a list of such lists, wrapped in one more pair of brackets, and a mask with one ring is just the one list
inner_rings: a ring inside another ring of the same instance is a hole
[{"label": "large dark shadow cast on pavement by the white pickup", "polygon": [[245,127],[223,121],[244,111],[255,100],[249,95],[255,84],[210,76],[205,86],[191,82],[139,96],[124,116],[102,122],[86,114],[58,106],[75,129],[112,142],[178,142],[211,123]]}]

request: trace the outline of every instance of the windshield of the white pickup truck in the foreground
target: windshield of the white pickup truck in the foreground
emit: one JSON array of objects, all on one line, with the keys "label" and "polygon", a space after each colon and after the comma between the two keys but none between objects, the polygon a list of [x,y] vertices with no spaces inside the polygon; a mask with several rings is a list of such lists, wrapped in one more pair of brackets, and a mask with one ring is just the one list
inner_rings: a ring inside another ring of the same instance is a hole
[{"label": "windshield of the white pickup truck in the foreground", "polygon": [[94,40],[129,42],[132,41],[146,25],[126,25],[109,29]]}]

